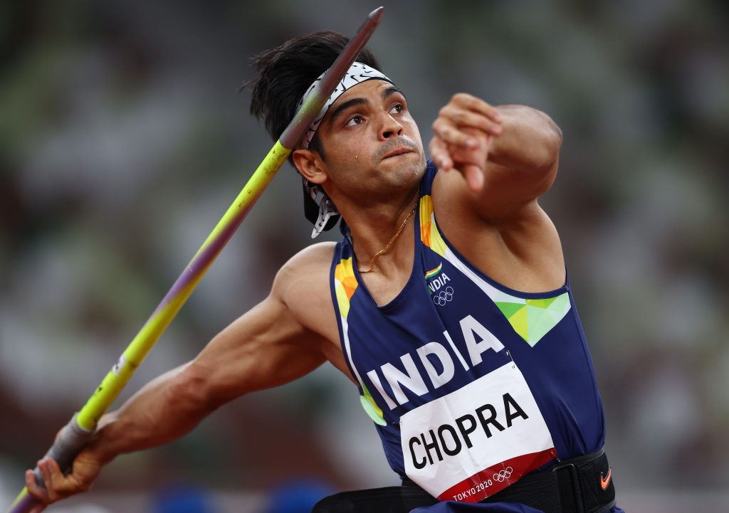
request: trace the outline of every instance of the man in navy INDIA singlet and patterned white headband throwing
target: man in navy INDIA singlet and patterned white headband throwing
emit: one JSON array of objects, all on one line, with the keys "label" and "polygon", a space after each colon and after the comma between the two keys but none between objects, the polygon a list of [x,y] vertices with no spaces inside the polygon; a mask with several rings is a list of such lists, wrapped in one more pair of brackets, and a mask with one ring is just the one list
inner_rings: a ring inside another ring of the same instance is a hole
[{"label": "man in navy INDIA singlet and patterned white headband throwing", "polygon": [[[344,44],[312,34],[257,57],[251,109],[274,139]],[[343,240],[290,259],[195,360],[104,415],[69,475],[39,462],[46,491],[28,471],[30,493],[85,491],[117,455],[328,360],[359,389],[404,485],[315,511],[620,512],[560,241],[537,203],[557,172],[557,126],[457,94],[426,162],[405,95],[369,52],[321,114],[292,163],[313,235],[341,216]]]}]

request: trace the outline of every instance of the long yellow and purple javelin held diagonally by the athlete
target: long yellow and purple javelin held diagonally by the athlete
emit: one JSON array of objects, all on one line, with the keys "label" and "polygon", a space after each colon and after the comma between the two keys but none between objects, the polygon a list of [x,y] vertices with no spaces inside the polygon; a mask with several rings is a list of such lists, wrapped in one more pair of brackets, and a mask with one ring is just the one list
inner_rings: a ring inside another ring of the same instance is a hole
[{"label": "long yellow and purple javelin held diagonally by the athlete", "polygon": [[[227,209],[227,212],[222,216],[211,234],[208,235],[203,246],[200,246],[195,257],[192,257],[190,264],[185,267],[172,288],[157,305],[155,311],[152,312],[152,316],[149,317],[136,337],[130,342],[122,356],[120,356],[119,361],[106,374],[101,385],[96,388],[84,407],[66,424],[66,428],[61,431],[61,436],[58,436],[58,439],[50,447],[44,458],[50,456],[58,462],[61,469],[66,470],[71,467],[76,455],[91,439],[101,415],[104,415],[104,412],[112,405],[136,368],[139,367],[144,357],[147,356],[147,353],[157,342],[157,339],[167,329],[184,302],[195,290],[195,286],[198,285],[200,279],[203,278],[220,251],[253,208],[253,205],[262,195],[273,176],[276,175],[278,169],[281,168],[289,154],[299,144],[305,131],[316,115],[319,114],[324,103],[332,95],[335,87],[337,87],[346,71],[354,63],[359,52],[367,44],[375,28],[379,25],[383,9],[384,7],[379,7],[370,12],[337,60],[327,70],[327,74],[316,85],[311,95],[306,98],[303,106],[286,127],[286,130],[281,133],[281,137],[270,149],[270,152],[243,187],[241,193],[235,198],[235,201]],[[36,480],[43,483],[42,474],[37,467],[35,474]],[[28,513],[34,506],[39,504],[41,503],[28,493],[27,487],[23,487],[7,513]]]}]

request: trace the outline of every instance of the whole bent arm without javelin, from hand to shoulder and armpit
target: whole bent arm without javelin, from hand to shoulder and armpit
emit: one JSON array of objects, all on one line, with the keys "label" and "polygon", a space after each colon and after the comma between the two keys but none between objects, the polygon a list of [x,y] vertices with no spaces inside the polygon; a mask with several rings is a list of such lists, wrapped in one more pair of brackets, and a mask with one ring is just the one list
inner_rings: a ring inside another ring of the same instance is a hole
[{"label": "whole bent arm without javelin, from hand to shoulder and armpit", "polygon": [[433,183],[438,226],[499,283],[525,292],[564,285],[559,235],[537,198],[557,174],[561,130],[526,106],[454,95],[433,124],[430,149],[445,172]]}]

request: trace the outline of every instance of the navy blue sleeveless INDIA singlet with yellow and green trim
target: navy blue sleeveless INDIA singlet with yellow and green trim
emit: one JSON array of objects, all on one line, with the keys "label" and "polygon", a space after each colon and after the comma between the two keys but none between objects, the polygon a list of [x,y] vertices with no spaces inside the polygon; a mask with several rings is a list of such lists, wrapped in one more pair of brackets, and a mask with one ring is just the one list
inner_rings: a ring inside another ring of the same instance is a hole
[{"label": "navy blue sleeveless INDIA singlet with yellow and green trim", "polygon": [[348,237],[332,298],[342,349],[391,468],[441,501],[477,502],[599,450],[604,418],[569,282],[529,294],[491,280],[440,232],[428,163],[408,283],[376,305]]}]

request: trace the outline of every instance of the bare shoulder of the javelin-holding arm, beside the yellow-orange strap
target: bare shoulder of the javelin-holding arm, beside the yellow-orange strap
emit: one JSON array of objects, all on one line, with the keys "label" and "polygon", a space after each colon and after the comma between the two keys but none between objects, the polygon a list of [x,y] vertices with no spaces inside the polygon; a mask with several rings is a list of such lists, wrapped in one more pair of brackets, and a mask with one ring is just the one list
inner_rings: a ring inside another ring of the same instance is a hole
[{"label": "bare shoulder of the javelin-holding arm, beside the yellow-orange strap", "polygon": [[329,340],[338,340],[329,283],[334,248],[323,242],[299,251],[278,271],[271,291],[303,326]]}]

